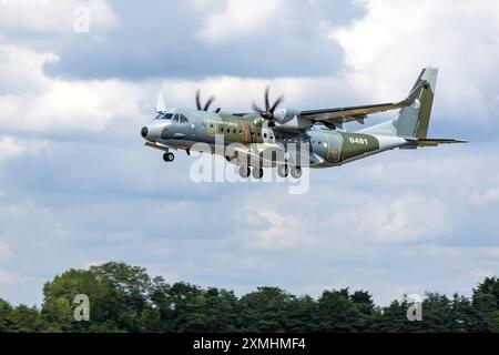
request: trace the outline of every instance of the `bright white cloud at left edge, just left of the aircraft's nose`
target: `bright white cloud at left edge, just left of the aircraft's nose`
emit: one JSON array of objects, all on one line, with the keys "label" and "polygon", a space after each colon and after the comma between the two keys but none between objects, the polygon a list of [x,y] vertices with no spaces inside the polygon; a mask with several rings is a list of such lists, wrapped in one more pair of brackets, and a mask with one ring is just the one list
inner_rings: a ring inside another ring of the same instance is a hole
[{"label": "bright white cloud at left edge, just left of the aircraft's nose", "polygon": [[0,83],[0,128],[4,130],[100,132],[112,122],[144,121],[140,105],[146,101],[147,90],[141,85],[116,80],[53,79],[44,74],[43,65],[58,57],[24,47],[1,45],[0,58],[0,73],[4,74]]}]

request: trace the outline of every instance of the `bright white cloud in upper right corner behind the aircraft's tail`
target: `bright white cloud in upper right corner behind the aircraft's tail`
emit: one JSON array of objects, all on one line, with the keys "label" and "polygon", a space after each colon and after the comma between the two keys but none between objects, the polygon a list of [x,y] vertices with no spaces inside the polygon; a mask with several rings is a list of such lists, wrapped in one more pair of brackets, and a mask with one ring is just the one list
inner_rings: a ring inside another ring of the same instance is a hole
[{"label": "bright white cloud in upper right corner behind the aircraft's tail", "polygon": [[[391,100],[408,92],[422,67],[439,67],[437,128],[490,134],[499,91],[499,3],[486,1],[363,1],[368,16],[335,29],[349,80],[359,92]],[[472,26],[464,26],[470,23]],[[492,133],[493,134],[493,133]]]}]

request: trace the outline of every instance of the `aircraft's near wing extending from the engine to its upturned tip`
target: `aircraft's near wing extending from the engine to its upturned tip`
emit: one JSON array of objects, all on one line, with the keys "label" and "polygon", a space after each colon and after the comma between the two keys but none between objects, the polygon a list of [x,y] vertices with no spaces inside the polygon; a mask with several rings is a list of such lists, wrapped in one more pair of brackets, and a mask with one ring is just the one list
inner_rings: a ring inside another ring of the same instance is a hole
[{"label": "aircraft's near wing extending from the engine to its upturned tip", "polygon": [[334,124],[335,126],[339,128],[344,123],[353,121],[357,121],[364,124],[364,120],[368,114],[397,110],[413,104],[413,102],[417,99],[417,95],[420,92],[422,85],[428,85],[428,82],[421,81],[417,87],[413,89],[409,97],[400,102],[302,111],[299,115],[312,121],[323,122],[326,125]]}]

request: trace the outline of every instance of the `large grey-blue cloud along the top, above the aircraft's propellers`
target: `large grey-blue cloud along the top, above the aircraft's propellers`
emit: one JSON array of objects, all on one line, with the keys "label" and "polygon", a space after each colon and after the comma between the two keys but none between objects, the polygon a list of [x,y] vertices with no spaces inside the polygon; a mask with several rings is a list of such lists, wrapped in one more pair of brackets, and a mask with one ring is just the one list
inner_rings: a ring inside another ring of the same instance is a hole
[{"label": "large grey-blue cloud along the top, above the aircraft's propellers", "polygon": [[333,75],[342,52],[328,33],[364,12],[344,0],[149,0],[141,7],[123,0],[113,10],[116,29],[45,39],[61,57],[48,72],[129,80]]}]

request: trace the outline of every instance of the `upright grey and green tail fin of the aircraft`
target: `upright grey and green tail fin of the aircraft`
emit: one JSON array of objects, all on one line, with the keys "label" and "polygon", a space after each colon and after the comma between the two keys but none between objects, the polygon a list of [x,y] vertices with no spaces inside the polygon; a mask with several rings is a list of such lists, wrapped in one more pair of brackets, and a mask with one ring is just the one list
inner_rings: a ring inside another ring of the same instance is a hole
[{"label": "upright grey and green tail fin of the aircraft", "polygon": [[397,135],[404,138],[426,139],[428,134],[434,94],[437,87],[437,68],[425,68],[413,87],[414,91],[420,85],[415,102],[400,110],[397,119]]}]

